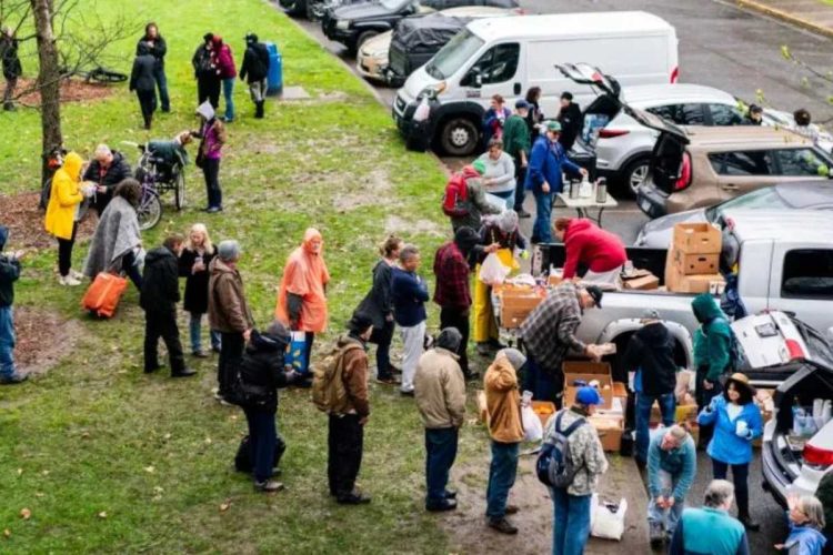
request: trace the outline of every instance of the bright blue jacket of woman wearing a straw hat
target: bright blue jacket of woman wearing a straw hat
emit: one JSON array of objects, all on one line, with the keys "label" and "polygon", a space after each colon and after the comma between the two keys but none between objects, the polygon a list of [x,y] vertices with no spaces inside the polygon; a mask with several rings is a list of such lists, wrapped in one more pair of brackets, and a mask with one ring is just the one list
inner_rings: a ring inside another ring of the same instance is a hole
[{"label": "bright blue jacket of woman wearing a straw hat", "polygon": [[[714,424],[714,435],[709,442],[709,456],[726,464],[746,464],[752,461],[752,441],[763,434],[761,410],[755,403],[746,403],[737,418],[730,420],[726,411],[726,398],[723,395],[714,397],[711,406],[703,408],[697,415],[697,424],[709,426]],[[746,422],[746,435],[740,437],[736,433],[737,421]]]}]

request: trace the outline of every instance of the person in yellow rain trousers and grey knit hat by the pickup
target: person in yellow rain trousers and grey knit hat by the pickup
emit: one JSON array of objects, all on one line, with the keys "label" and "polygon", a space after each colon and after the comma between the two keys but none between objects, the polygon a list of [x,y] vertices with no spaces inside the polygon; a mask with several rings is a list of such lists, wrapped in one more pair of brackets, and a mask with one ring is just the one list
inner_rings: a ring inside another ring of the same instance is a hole
[{"label": "person in yellow rain trousers and grey knit hat by the pickup", "polygon": [[492,309],[492,287],[480,280],[480,264],[485,256],[492,252],[498,254],[503,265],[512,270],[521,266],[514,258],[514,249],[526,250],[526,238],[521,234],[518,226],[518,212],[506,210],[495,216],[485,218],[480,229],[480,260],[474,270],[474,341],[478,344],[478,353],[488,356],[492,350],[505,347],[500,342],[498,323],[494,320]]}]

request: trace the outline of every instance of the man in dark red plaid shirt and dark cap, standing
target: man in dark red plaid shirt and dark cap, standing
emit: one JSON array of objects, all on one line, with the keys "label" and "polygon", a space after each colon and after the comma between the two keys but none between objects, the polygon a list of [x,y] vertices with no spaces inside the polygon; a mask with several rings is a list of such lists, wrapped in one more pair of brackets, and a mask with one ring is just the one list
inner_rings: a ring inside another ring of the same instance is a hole
[{"label": "man in dark red plaid shirt and dark cap, standing", "polygon": [[469,370],[466,356],[471,309],[471,269],[468,259],[479,241],[480,234],[464,225],[456,230],[454,240],[440,246],[434,255],[434,302],[440,305],[440,329],[456,327],[463,336],[456,354],[460,356],[460,367],[466,380],[475,377]]}]

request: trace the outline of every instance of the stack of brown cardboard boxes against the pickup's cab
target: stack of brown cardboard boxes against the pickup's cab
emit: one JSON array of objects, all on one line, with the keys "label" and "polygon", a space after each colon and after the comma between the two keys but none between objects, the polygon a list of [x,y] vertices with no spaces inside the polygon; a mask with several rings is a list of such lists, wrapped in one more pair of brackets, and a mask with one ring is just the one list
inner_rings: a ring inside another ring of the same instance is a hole
[{"label": "stack of brown cardboard boxes against the pickup's cab", "polygon": [[720,293],[720,230],[710,223],[678,223],[665,261],[665,286],[675,293]]}]

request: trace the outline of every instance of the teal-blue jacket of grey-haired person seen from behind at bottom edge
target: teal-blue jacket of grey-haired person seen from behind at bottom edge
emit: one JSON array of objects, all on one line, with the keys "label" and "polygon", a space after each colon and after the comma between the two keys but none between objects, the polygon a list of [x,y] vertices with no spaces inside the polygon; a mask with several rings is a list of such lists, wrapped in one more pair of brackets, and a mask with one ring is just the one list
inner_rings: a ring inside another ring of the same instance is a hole
[{"label": "teal-blue jacket of grey-haired person seen from behind at bottom edge", "polygon": [[686,508],[674,528],[669,555],[749,555],[746,531],[719,508]]}]

